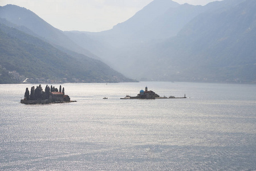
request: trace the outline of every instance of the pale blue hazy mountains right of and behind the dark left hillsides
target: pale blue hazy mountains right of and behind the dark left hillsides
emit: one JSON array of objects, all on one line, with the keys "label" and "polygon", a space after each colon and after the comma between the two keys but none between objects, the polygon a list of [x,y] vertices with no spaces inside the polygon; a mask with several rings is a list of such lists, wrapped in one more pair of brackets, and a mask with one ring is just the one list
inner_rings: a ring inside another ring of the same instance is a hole
[{"label": "pale blue hazy mountains right of and behind the dark left hillsides", "polygon": [[155,0],[111,30],[64,33],[134,79],[256,83],[255,5]]}]

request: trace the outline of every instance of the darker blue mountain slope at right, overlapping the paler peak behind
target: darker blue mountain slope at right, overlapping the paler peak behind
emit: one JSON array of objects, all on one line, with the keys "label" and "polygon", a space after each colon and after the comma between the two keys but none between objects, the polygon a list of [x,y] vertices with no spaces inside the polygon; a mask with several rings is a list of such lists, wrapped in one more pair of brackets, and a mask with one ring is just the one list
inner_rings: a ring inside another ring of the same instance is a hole
[{"label": "darker blue mountain slope at right, overlapping the paler peak behind", "polygon": [[[241,9],[243,5],[247,6]],[[253,23],[256,18],[246,21],[248,17],[255,16],[255,5],[255,2],[245,1],[228,10],[201,14],[188,23],[178,36],[170,38],[169,45],[163,43],[167,47],[162,53],[162,59],[170,60],[168,54],[174,54],[171,59],[172,62],[176,61],[176,66],[180,66],[179,70],[183,66],[188,70],[183,70],[186,75],[194,72],[196,77],[191,75],[186,78],[190,81],[199,79],[212,82],[255,82],[255,74],[251,71],[255,73],[256,44]],[[247,17],[240,15],[243,11],[249,13]],[[251,25],[249,22],[252,22]],[[176,55],[183,62],[175,59]],[[248,72],[245,72],[246,69]],[[175,71],[172,73],[175,75]],[[173,78],[178,79],[178,76],[182,77],[182,74]]]}]

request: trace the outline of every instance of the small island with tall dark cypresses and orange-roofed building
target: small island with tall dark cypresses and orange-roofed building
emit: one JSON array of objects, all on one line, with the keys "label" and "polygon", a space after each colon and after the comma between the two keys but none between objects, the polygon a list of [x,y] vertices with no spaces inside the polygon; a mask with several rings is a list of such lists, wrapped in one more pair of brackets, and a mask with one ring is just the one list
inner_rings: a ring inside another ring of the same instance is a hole
[{"label": "small island with tall dark cypresses and orange-roofed building", "polygon": [[70,100],[70,96],[65,95],[64,93],[64,87],[59,86],[58,88],[55,87],[49,87],[46,85],[46,87],[43,88],[41,84],[39,86],[33,86],[30,89],[26,88],[24,99],[21,100],[21,103],[23,104],[50,104],[50,103],[70,103],[70,102],[76,102]]}]

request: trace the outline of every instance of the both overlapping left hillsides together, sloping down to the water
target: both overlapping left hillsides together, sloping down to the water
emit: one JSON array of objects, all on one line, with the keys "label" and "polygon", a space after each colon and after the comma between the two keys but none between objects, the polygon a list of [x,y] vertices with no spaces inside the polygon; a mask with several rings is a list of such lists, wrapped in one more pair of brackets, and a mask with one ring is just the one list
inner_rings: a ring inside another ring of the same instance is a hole
[{"label": "both overlapping left hillsides together, sloping down to the water", "polygon": [[0,17],[0,84],[134,82],[29,10],[7,5]]}]

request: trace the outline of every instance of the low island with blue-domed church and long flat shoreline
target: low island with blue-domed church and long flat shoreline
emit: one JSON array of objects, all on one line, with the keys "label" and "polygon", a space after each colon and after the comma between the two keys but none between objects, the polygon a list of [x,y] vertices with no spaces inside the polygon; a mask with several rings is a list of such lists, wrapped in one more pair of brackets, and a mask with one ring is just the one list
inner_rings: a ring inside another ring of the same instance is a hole
[{"label": "low island with blue-domed church and long flat shoreline", "polygon": [[141,89],[140,93],[137,96],[125,96],[120,99],[186,99],[186,95],[184,97],[175,97],[175,96],[169,96],[169,97],[160,97],[157,95],[157,93],[148,90],[148,87],[145,87],[145,91]]}]

